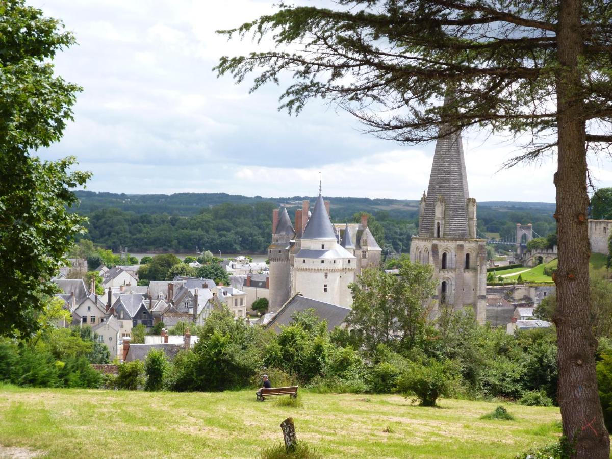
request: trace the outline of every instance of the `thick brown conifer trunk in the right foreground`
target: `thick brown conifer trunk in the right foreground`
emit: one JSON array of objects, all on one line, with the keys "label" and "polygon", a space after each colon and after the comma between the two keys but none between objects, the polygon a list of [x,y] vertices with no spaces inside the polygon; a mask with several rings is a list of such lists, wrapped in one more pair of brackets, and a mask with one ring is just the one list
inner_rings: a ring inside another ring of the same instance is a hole
[{"label": "thick brown conifer trunk in the right foreground", "polygon": [[559,267],[557,326],[559,353],[558,400],[563,433],[575,442],[578,458],[609,459],[610,437],[603,424],[595,379],[595,340],[591,331],[589,299],[589,237],[586,208],[585,125],[578,56],[582,51],[581,0],[561,0],[558,26],[559,62],[557,80],[558,170],[557,190]]}]

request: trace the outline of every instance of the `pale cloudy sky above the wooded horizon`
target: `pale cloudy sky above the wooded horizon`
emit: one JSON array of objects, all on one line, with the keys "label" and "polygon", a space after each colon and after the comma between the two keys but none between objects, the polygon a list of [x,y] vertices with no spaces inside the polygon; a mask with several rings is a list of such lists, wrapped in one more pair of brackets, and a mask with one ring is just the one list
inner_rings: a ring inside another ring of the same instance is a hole
[{"label": "pale cloudy sky above the wooded horizon", "polygon": [[[321,4],[320,0],[304,0]],[[56,72],[80,84],[75,121],[45,159],[75,155],[87,189],[114,193],[217,193],[417,200],[434,144],[401,146],[362,133],[348,113],[313,101],[278,111],[282,87],[249,94],[212,71],[220,56],[270,49],[215,34],[274,11],[276,0],[29,0],[61,19],[78,45]],[[520,154],[511,140],[464,134],[469,192],[477,201],[554,202],[554,159],[501,170]],[[612,165],[591,161],[595,184]]]}]

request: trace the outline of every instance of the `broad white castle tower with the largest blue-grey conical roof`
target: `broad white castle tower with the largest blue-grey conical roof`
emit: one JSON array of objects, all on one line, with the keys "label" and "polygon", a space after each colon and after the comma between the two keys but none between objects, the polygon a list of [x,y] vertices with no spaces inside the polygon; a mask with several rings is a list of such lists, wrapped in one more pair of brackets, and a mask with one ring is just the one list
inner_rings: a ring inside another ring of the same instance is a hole
[{"label": "broad white castle tower with the largest blue-grey conical roof", "polygon": [[[338,242],[337,231],[320,194],[291,256],[291,295],[340,306],[353,304],[349,283],[355,279],[357,259]],[[347,237],[350,237],[348,234]],[[272,267],[270,268],[272,278]]]}]

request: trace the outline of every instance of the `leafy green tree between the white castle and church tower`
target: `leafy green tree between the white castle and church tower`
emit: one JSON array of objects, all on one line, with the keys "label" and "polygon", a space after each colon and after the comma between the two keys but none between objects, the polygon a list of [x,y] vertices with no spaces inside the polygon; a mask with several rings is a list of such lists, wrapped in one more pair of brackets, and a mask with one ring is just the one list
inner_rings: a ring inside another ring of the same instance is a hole
[{"label": "leafy green tree between the white castle and church tower", "polygon": [[353,292],[353,310],[346,318],[364,340],[368,353],[376,359],[379,345],[410,349],[422,337],[429,310],[426,300],[435,293],[433,269],[400,259],[399,275],[365,269]]}]

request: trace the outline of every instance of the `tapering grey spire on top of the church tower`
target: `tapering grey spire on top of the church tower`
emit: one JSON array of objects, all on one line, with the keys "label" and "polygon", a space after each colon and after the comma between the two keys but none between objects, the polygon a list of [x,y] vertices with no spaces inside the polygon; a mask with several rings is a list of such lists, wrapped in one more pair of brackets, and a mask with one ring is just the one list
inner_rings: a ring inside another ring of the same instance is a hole
[{"label": "tapering grey spire on top of the church tower", "polygon": [[468,177],[463,158],[461,132],[442,136],[448,127],[440,129],[425,198],[425,212],[419,222],[419,236],[434,236],[435,204],[438,196],[446,202],[444,235],[469,237],[466,200],[469,198]]}]

